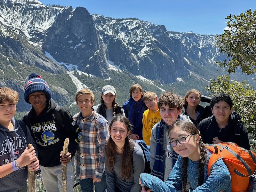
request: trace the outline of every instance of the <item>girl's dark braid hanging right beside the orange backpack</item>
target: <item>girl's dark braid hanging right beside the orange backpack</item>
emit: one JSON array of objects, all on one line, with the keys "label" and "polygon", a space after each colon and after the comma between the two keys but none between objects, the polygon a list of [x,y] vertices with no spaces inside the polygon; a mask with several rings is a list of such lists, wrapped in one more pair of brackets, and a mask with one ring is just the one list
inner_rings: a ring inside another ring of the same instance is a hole
[{"label": "girl's dark braid hanging right beside the orange backpack", "polygon": [[198,184],[197,186],[201,186],[204,183],[204,168],[207,160],[207,150],[202,141],[199,141],[200,148],[200,158],[198,164]]}]

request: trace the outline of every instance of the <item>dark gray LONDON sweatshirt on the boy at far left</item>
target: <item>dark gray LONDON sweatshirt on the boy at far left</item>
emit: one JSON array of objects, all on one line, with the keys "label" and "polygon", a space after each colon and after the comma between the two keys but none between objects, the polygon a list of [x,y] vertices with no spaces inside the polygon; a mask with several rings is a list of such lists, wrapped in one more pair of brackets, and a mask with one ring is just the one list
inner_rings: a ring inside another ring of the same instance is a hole
[{"label": "dark gray LONDON sweatshirt on the boy at far left", "polygon": [[[27,127],[27,135],[20,127],[19,121],[11,119],[14,130],[9,130],[0,124],[0,166],[17,160],[23,153],[28,143],[36,149],[36,144]],[[24,187],[28,177],[27,166],[20,168],[0,179],[0,191],[18,191]]]}]

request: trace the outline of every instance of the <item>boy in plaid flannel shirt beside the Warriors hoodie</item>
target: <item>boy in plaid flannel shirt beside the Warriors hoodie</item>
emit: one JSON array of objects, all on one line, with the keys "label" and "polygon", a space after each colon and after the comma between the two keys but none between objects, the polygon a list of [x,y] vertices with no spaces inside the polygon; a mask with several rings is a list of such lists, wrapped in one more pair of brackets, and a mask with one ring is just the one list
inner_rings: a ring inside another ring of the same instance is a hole
[{"label": "boy in plaid flannel shirt beside the Warriors hoodie", "polygon": [[76,104],[80,113],[73,119],[82,131],[82,140],[76,152],[76,174],[82,192],[106,191],[104,144],[109,138],[108,121],[92,106],[95,98],[92,91],[82,89],[76,93]]}]

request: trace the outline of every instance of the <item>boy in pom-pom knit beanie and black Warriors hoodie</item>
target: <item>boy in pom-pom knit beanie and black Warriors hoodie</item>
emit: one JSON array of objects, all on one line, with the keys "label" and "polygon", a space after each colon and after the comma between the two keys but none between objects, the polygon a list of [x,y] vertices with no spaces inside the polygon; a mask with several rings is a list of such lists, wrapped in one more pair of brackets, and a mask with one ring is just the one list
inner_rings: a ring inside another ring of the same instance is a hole
[{"label": "boy in pom-pom knit beanie and black Warriors hoodie", "polygon": [[[73,191],[74,155],[81,130],[69,111],[51,99],[52,92],[40,75],[32,73],[24,86],[24,99],[32,105],[23,117],[36,141],[41,175],[46,192],[61,192],[61,164],[67,164],[67,188]],[[68,153],[62,155],[69,138]]]}]

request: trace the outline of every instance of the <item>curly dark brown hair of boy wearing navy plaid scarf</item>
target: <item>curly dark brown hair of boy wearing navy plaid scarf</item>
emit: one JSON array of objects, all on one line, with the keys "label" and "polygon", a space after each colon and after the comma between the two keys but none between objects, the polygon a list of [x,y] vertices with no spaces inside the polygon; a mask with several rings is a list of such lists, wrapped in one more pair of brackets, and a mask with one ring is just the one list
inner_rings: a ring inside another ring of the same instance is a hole
[{"label": "curly dark brown hair of boy wearing navy plaid scarf", "polygon": [[178,110],[182,108],[183,103],[181,98],[172,92],[163,92],[157,100],[157,107],[160,108],[162,105],[169,105],[170,108],[177,108]]}]

